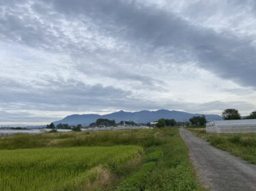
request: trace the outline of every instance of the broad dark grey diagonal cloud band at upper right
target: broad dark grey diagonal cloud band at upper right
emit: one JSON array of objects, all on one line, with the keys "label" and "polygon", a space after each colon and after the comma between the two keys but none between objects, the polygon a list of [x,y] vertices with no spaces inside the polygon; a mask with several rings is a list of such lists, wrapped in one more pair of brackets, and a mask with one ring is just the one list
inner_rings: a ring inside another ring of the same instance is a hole
[{"label": "broad dark grey diagonal cloud band at upper right", "polygon": [[90,16],[104,30],[110,30],[110,35],[131,39],[141,46],[146,44],[148,51],[175,48],[175,52],[179,52],[177,57],[189,54],[200,67],[244,86],[255,87],[256,50],[251,37],[195,27],[169,12],[137,1],[53,2],[55,10],[67,16]]}]

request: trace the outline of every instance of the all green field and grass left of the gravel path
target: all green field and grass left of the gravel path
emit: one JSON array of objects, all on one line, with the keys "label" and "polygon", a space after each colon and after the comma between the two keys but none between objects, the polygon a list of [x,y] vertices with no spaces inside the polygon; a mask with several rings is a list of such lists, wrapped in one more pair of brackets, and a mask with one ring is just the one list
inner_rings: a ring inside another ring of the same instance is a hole
[{"label": "all green field and grass left of the gravel path", "polygon": [[177,128],[0,137],[0,190],[202,190]]}]

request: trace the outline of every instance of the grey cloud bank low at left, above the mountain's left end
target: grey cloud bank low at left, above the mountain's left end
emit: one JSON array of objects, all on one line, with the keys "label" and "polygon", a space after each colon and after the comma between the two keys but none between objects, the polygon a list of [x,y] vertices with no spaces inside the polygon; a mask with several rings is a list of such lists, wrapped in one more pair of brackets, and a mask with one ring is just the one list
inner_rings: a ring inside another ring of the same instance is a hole
[{"label": "grey cloud bank low at left, above the mountain's left end", "polygon": [[23,103],[26,108],[43,110],[73,110],[113,107],[128,104],[131,92],[101,84],[93,86],[70,80],[47,80],[48,88],[5,82],[0,90],[1,103]]}]

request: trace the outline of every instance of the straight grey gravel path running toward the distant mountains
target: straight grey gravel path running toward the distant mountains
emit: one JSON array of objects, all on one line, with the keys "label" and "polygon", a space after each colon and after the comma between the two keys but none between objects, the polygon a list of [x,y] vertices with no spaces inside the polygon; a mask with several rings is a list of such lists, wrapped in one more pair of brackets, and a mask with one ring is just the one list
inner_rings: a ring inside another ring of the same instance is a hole
[{"label": "straight grey gravel path running toward the distant mountains", "polygon": [[188,145],[201,184],[212,191],[255,191],[256,165],[213,147],[185,129],[180,135]]}]

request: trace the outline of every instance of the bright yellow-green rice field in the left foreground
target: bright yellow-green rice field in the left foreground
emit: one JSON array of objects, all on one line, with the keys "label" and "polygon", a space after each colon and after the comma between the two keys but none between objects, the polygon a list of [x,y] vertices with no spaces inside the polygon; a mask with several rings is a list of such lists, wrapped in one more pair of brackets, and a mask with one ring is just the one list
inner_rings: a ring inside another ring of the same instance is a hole
[{"label": "bright yellow-green rice field in the left foreground", "polygon": [[1,150],[0,190],[65,190],[65,184],[74,188],[82,184],[79,177],[90,176],[90,169],[118,165],[141,152],[139,146]]}]

